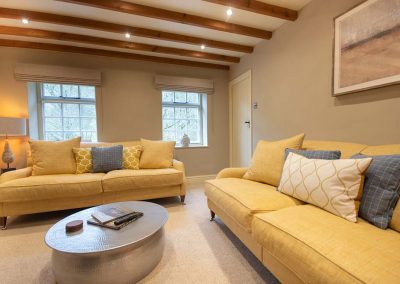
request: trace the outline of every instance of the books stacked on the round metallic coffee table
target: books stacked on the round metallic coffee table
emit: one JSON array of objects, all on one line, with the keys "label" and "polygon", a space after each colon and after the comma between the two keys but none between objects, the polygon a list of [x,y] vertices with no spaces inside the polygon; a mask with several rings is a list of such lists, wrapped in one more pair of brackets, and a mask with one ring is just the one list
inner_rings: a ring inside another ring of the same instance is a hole
[{"label": "books stacked on the round metallic coffee table", "polygon": [[143,216],[123,207],[97,207],[92,213],[92,218],[87,220],[90,225],[119,230]]}]

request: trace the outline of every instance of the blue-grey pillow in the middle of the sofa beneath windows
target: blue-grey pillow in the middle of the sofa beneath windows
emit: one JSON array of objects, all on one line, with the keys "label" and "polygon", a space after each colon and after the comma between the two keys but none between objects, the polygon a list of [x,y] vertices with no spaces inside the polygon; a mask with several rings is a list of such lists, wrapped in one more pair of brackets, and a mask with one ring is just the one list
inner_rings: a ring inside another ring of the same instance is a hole
[{"label": "blue-grey pillow in the middle of the sofa beneath windows", "polygon": [[123,146],[92,147],[94,173],[107,173],[122,169]]}]

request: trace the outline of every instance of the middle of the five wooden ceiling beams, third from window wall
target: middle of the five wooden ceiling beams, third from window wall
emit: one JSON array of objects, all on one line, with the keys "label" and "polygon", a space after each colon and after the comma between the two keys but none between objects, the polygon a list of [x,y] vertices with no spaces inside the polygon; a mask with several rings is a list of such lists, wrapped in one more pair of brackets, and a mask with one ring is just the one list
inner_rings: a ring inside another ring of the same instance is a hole
[{"label": "middle of the five wooden ceiling beams, third from window wall", "polygon": [[127,32],[134,36],[153,38],[159,40],[180,42],[200,46],[205,44],[207,47],[231,50],[237,52],[252,53],[253,47],[241,44],[228,43],[217,40],[210,40],[206,38],[186,36],[176,33],[167,33],[158,30],[138,28],[127,25],[113,24],[103,21],[89,20],[77,17],[63,16],[50,13],[42,13],[27,10],[0,8],[0,18],[16,19],[28,18],[32,22],[42,22],[57,25],[74,26],[80,28],[87,28],[99,31],[113,32],[125,34]]}]

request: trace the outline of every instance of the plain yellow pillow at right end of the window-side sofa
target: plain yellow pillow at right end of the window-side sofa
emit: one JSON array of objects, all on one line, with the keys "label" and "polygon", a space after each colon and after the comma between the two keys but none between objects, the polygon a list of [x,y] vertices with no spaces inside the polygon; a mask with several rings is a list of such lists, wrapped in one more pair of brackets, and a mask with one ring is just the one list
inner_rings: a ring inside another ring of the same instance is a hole
[{"label": "plain yellow pillow at right end of the window-side sofa", "polygon": [[172,167],[175,141],[152,141],[140,139],[143,153],[140,157],[141,169],[163,169]]}]

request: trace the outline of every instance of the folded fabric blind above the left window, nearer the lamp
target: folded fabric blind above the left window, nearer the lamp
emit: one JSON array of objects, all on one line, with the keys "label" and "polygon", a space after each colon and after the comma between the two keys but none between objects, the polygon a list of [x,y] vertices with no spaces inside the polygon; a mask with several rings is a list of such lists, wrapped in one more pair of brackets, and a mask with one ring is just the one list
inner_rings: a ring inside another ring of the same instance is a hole
[{"label": "folded fabric blind above the left window, nearer the lamp", "polygon": [[101,72],[95,69],[17,63],[14,75],[19,81],[101,85]]}]

